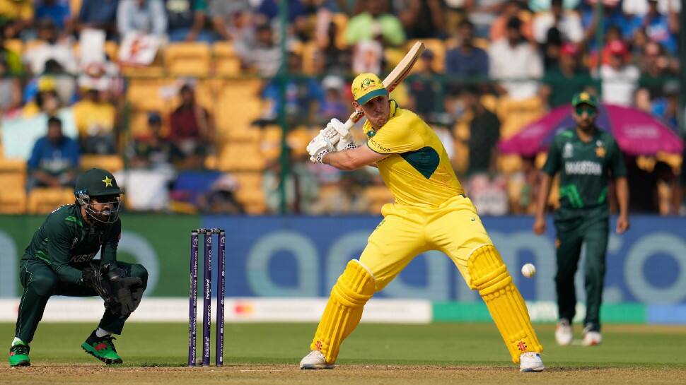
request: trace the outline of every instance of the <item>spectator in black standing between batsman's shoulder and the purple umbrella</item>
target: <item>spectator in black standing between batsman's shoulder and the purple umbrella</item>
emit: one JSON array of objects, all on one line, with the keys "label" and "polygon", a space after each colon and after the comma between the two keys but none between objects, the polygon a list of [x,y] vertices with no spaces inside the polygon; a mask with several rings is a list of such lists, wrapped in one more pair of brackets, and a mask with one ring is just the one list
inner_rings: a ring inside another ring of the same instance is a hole
[{"label": "spectator in black standing between batsman's shoulder and the purple umbrella", "polygon": [[469,124],[469,173],[492,172],[496,159],[496,143],[500,138],[500,121],[479,101],[476,88],[467,87],[461,95],[465,110],[472,114]]}]

